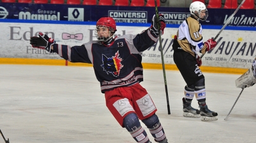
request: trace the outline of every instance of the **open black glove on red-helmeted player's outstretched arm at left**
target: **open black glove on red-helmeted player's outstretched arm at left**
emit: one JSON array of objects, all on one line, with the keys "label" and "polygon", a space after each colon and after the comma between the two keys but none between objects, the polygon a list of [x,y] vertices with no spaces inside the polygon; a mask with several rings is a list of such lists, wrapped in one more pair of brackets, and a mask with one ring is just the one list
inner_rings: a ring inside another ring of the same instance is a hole
[{"label": "open black glove on red-helmeted player's outstretched arm at left", "polygon": [[49,38],[41,32],[39,33],[39,37],[30,37],[30,44],[33,48],[44,49],[48,52],[52,52],[51,45],[54,43],[53,38]]}]

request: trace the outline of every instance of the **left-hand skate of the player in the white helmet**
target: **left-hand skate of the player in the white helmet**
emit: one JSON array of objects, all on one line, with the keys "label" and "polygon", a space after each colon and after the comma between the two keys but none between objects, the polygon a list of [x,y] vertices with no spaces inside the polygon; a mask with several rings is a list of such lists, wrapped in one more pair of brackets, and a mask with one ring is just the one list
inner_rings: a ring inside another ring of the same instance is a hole
[{"label": "left-hand skate of the player in the white helmet", "polygon": [[200,117],[200,111],[193,108],[191,106],[191,103],[188,103],[185,98],[182,98],[183,101],[183,116],[184,117],[193,117],[193,118],[199,118]]}]

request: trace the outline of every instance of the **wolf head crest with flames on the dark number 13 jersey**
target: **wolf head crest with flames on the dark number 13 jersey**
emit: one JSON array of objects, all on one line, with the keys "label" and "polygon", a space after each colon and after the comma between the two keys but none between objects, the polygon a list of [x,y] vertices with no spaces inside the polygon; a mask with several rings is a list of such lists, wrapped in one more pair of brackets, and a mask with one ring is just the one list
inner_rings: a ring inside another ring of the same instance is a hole
[{"label": "wolf head crest with flames on the dark number 13 jersey", "polygon": [[124,67],[121,64],[122,58],[119,57],[118,51],[115,53],[115,56],[112,57],[106,57],[106,55],[102,55],[102,62],[103,64],[101,67],[103,67],[103,70],[106,71],[106,73],[112,73],[113,76],[119,76],[120,70],[122,67]]}]

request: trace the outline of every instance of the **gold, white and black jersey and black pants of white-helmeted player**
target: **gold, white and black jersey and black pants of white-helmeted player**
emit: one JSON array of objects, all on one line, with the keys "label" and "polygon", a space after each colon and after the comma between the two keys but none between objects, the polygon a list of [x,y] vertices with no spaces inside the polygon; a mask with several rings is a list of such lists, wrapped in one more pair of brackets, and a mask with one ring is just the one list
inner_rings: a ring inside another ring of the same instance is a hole
[{"label": "gold, white and black jersey and black pants of white-helmeted player", "polygon": [[177,39],[172,44],[174,62],[188,86],[203,79],[203,73],[196,62],[196,52],[205,53],[203,46],[202,26],[193,17],[188,17],[179,26]]}]

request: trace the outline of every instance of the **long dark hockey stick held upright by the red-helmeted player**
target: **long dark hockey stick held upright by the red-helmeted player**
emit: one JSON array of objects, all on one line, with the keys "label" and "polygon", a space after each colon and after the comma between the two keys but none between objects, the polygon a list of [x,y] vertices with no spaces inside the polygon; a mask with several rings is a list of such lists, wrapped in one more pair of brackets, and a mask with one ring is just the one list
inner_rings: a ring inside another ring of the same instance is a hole
[{"label": "long dark hockey stick held upright by the red-helmeted player", "polygon": [[168,110],[168,114],[170,115],[169,96],[168,96],[167,81],[166,81],[166,74],[165,74],[165,64],[164,64],[164,60],[163,60],[163,47],[162,47],[161,31],[160,31],[160,25],[159,25],[159,14],[158,14],[158,9],[157,9],[157,0],[155,0],[155,15],[157,16],[157,23],[158,23],[159,43],[160,43],[162,67],[163,67],[163,80],[165,82],[165,94],[166,94],[166,101],[167,101],[167,110]]}]

